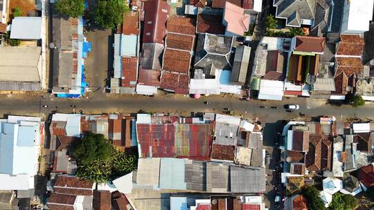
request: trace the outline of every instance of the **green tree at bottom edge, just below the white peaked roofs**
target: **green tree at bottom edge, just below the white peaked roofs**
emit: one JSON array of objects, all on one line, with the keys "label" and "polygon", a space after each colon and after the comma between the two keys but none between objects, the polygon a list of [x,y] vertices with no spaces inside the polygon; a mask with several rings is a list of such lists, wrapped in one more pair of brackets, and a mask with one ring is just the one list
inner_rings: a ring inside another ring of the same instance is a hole
[{"label": "green tree at bottom edge, just below the white peaked roofs", "polygon": [[342,193],[335,193],[332,195],[332,201],[329,210],[349,210],[357,207],[358,200],[352,195],[345,195]]}]

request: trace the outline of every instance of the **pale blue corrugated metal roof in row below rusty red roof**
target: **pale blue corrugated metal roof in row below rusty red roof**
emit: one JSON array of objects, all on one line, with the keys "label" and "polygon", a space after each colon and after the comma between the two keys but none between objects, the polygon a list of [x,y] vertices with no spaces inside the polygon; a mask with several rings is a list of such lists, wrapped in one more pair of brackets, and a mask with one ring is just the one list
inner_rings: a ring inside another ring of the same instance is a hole
[{"label": "pale blue corrugated metal roof in row below rusty red roof", "polygon": [[161,158],[160,189],[187,189],[184,182],[184,160],[177,158]]}]

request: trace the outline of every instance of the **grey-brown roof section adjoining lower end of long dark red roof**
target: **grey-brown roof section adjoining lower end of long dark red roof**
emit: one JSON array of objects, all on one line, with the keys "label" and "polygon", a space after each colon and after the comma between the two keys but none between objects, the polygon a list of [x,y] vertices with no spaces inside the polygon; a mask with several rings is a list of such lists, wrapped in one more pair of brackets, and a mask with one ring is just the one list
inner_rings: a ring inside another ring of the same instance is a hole
[{"label": "grey-brown roof section adjoining lower end of long dark red roof", "polygon": [[158,43],[143,43],[140,64],[146,69],[161,70],[163,45]]}]

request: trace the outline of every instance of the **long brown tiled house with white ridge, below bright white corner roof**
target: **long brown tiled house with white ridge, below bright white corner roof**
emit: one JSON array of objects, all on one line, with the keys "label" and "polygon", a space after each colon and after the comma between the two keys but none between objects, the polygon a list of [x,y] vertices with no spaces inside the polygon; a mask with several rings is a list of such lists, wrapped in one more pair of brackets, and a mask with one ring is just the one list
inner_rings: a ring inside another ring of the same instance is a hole
[{"label": "long brown tiled house with white ridge, below bright white corner roof", "polygon": [[345,95],[353,93],[356,77],[362,73],[362,52],[364,39],[359,35],[340,35],[335,54],[335,92],[334,99],[345,99]]}]

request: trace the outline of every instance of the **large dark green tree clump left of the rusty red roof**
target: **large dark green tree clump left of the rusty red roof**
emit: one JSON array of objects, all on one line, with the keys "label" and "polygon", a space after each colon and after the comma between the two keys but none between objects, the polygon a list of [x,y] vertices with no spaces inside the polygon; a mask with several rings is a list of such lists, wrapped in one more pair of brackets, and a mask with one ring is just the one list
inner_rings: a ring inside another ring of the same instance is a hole
[{"label": "large dark green tree clump left of the rusty red roof", "polygon": [[104,135],[86,133],[73,148],[78,163],[76,175],[84,180],[103,183],[136,169],[136,156],[115,149]]}]

